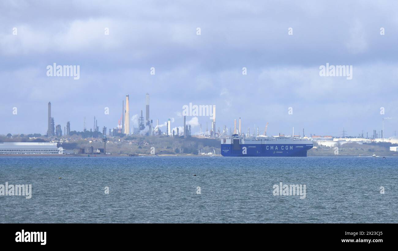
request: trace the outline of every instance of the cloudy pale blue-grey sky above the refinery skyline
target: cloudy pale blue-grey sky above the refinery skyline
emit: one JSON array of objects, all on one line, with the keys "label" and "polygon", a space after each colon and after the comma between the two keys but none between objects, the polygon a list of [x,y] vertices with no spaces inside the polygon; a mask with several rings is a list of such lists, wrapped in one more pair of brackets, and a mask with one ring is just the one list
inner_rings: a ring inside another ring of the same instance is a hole
[{"label": "cloudy pale blue-grey sky above the refinery skyline", "polygon": [[[397,12],[396,1],[1,1],[0,134],[46,134],[49,101],[62,130],[96,116],[109,131],[127,94],[137,127],[149,93],[150,118],[172,127],[192,103],[215,105],[221,131],[242,118],[245,133],[269,122],[267,135],[370,137],[392,118],[394,136]],[[80,78],[47,76],[54,63]],[[352,66],[352,79],[321,76],[327,63]],[[211,127],[187,120],[192,134]]]}]

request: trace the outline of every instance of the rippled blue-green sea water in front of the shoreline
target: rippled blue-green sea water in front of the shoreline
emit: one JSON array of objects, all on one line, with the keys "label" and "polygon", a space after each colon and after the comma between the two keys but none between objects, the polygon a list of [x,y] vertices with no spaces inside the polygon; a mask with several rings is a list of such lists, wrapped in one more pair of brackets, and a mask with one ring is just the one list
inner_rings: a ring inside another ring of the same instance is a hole
[{"label": "rippled blue-green sea water in front of the shoreline", "polygon": [[[397,163],[354,156],[2,156],[0,184],[31,184],[33,191],[31,199],[0,196],[0,222],[397,223]],[[273,195],[279,182],[305,184],[306,198]]]}]

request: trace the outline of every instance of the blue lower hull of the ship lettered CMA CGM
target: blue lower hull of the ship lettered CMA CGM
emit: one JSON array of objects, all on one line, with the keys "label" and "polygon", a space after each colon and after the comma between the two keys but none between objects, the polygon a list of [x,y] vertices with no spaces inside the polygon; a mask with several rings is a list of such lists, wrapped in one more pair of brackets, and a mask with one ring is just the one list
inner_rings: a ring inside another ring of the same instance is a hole
[{"label": "blue lower hull of the ship lettered CMA CGM", "polygon": [[221,155],[230,157],[306,157],[312,144],[221,144]]}]

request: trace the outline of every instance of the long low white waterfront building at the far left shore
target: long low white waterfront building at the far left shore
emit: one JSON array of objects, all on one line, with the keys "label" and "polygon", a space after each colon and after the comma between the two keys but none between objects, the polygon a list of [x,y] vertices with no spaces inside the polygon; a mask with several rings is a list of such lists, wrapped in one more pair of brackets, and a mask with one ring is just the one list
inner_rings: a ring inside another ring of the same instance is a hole
[{"label": "long low white waterfront building at the far left shore", "polygon": [[57,143],[47,142],[0,142],[0,154],[63,154]]}]

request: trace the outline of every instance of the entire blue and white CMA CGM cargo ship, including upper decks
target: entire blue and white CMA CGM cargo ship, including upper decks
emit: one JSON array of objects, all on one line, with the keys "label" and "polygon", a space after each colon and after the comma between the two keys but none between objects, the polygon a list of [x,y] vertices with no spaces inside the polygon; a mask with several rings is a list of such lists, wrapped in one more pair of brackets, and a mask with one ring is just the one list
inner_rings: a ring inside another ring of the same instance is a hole
[{"label": "entire blue and white CMA CGM cargo ship, including upper decks", "polygon": [[306,157],[314,147],[312,139],[298,136],[239,137],[221,139],[221,155],[229,157]]}]

